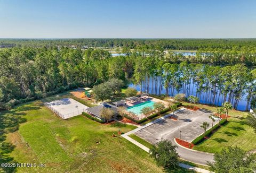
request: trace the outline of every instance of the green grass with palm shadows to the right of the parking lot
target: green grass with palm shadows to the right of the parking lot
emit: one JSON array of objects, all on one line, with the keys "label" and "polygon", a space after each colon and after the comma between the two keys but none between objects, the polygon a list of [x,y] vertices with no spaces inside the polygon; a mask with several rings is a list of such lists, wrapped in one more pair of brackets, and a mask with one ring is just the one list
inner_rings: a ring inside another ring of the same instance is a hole
[{"label": "green grass with palm shadows to the right of the parking lot", "polygon": [[[183,103],[186,105],[189,103]],[[216,107],[207,105],[196,105],[200,108],[208,109],[216,112]],[[225,148],[225,146],[238,146],[245,151],[250,151],[256,148],[256,135],[253,129],[245,123],[245,118],[248,113],[231,110],[229,111],[228,123],[223,125],[215,132],[210,139],[195,145],[193,149],[216,153]]]}]

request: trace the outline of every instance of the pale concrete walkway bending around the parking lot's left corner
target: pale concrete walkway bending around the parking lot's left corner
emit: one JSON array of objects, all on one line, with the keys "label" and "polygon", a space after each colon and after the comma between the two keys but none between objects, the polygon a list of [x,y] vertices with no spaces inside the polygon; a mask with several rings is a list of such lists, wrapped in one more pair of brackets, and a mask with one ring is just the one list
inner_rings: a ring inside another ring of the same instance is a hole
[{"label": "pale concrete walkway bending around the parking lot's left corner", "polygon": [[[177,114],[177,113],[179,113],[180,111],[185,110],[185,109],[186,109],[186,108],[178,109],[178,110],[174,111],[174,114]],[[172,114],[165,115],[165,116],[163,116],[163,117],[161,117],[161,118],[158,118],[158,119],[154,120],[153,122],[150,122],[150,123],[148,123],[148,124],[145,124],[145,125],[143,125],[143,126],[140,126],[140,127],[136,128],[136,129],[133,129],[132,131],[127,132],[127,133],[123,134],[122,136],[123,136],[126,140],[132,142],[133,144],[139,146],[139,148],[141,148],[142,150],[144,150],[144,151],[146,151],[146,152],[149,153],[149,148],[147,148],[145,145],[142,145],[141,143],[139,143],[139,142],[133,140],[133,139],[132,139],[131,137],[129,137],[128,135],[133,134],[133,133],[135,133],[135,132],[138,132],[138,131],[140,131],[140,130],[143,129],[143,128],[146,128],[146,127],[148,127],[148,126],[150,126],[150,125],[152,125],[152,124],[154,124],[154,123],[157,123],[157,122],[159,122],[159,121],[161,121],[161,120],[163,120],[163,119],[165,119],[165,118],[170,117],[171,115],[172,115]],[[183,148],[182,148],[182,149],[183,149]],[[185,150],[185,153],[186,153],[187,151],[189,151],[189,150],[186,150],[186,149],[183,149],[183,150]],[[189,151],[189,152],[191,152],[191,153],[189,153],[189,154],[194,154],[194,153],[193,153],[194,151]],[[179,153],[179,152],[178,152],[178,153]],[[195,153],[199,153],[199,152],[195,152]],[[200,153],[201,153],[201,152],[200,152]],[[180,153],[179,153],[179,154],[180,154]],[[201,154],[204,154],[204,153],[201,153]],[[206,153],[206,154],[207,154],[207,153]],[[195,155],[197,155],[197,154],[195,154]],[[190,155],[190,156],[193,157],[194,159],[198,159],[197,156],[196,156],[196,157],[194,157],[193,155]],[[212,155],[211,155],[211,156],[212,156]],[[189,161],[189,160],[188,160],[188,161]],[[193,161],[192,161],[192,162],[193,162]],[[183,163],[179,163],[179,166],[182,167],[182,168],[186,168],[186,169],[190,169],[190,170],[195,170],[195,171],[197,171],[197,172],[210,173],[209,170],[205,170],[205,169],[193,167],[193,166],[186,165],[186,164],[183,164]]]}]

